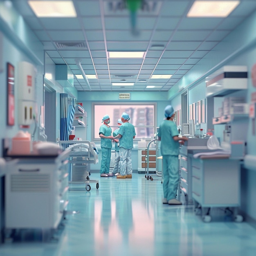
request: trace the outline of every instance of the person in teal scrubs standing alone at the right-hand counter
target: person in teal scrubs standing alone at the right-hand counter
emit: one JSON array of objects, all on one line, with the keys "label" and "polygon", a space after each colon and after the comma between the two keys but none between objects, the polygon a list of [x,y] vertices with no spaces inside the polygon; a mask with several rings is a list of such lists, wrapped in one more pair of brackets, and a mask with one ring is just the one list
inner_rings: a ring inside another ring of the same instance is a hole
[{"label": "person in teal scrubs standing alone at the right-hand counter", "polygon": [[166,119],[160,124],[158,130],[158,140],[161,141],[160,151],[163,156],[163,190],[164,199],[163,204],[182,204],[176,199],[177,188],[180,180],[179,173],[179,153],[180,144],[188,140],[187,137],[178,137],[179,132],[177,126],[173,121],[175,113],[171,105],[164,109],[164,116]]}]

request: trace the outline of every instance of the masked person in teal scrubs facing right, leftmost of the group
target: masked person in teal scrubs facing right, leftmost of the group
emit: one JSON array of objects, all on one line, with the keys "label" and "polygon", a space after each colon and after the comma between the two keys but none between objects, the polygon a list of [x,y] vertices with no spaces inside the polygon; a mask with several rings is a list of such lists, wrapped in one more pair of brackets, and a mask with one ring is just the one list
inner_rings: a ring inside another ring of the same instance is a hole
[{"label": "masked person in teal scrubs facing right, leftmost of the group", "polygon": [[109,173],[110,168],[110,158],[111,158],[111,148],[112,148],[112,139],[111,136],[112,129],[108,125],[110,123],[110,118],[108,115],[105,115],[102,118],[103,124],[99,128],[99,137],[101,138],[101,177],[113,176],[112,173]]}]

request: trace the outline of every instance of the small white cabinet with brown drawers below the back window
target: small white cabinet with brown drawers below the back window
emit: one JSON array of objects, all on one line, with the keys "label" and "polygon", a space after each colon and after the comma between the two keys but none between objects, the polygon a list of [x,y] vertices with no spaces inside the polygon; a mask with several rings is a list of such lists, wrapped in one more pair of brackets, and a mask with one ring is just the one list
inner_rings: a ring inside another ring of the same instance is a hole
[{"label": "small white cabinet with brown drawers below the back window", "polygon": [[[156,171],[156,160],[157,160],[156,150],[154,148],[149,149],[148,156],[149,156],[149,159],[147,159],[148,170],[149,170],[149,172],[155,172]],[[145,173],[146,168],[147,168],[146,157],[147,157],[147,150],[139,148],[138,149],[138,173],[141,173],[141,172]]]}]

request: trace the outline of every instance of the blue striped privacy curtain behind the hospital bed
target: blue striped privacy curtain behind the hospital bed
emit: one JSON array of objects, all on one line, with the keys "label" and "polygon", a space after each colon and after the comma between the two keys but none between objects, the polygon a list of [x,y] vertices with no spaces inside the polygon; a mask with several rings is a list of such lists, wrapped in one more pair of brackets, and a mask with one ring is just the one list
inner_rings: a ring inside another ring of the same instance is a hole
[{"label": "blue striped privacy curtain behind the hospital bed", "polygon": [[[61,140],[68,140],[72,123],[74,120],[74,112],[76,106],[76,99],[68,97],[67,93],[61,93]],[[63,144],[65,149],[68,144]]]}]

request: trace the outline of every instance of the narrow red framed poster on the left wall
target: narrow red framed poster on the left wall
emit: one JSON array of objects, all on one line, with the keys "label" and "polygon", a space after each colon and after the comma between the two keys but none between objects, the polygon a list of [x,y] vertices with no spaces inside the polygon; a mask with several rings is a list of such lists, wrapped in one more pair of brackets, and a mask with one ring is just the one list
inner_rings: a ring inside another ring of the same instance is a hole
[{"label": "narrow red framed poster on the left wall", "polygon": [[14,67],[7,63],[7,125],[14,125]]}]

